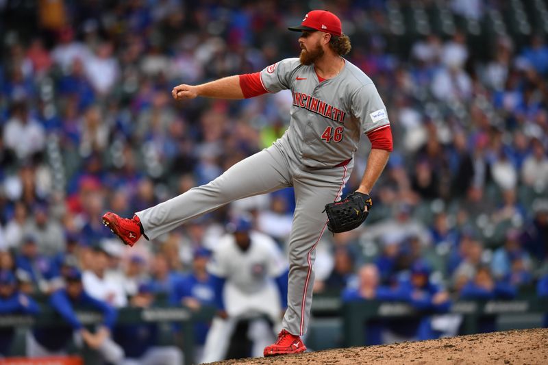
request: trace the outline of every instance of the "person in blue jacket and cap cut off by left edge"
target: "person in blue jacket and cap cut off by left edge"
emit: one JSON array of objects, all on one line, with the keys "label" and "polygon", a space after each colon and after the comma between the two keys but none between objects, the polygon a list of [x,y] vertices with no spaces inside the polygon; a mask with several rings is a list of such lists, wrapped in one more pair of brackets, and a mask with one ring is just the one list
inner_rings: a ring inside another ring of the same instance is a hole
[{"label": "person in blue jacket and cap cut off by left edge", "polygon": [[[32,314],[39,312],[32,298],[17,289],[17,280],[10,270],[0,271],[0,316],[2,314]],[[15,336],[14,327],[0,327],[0,357],[8,356]]]}]

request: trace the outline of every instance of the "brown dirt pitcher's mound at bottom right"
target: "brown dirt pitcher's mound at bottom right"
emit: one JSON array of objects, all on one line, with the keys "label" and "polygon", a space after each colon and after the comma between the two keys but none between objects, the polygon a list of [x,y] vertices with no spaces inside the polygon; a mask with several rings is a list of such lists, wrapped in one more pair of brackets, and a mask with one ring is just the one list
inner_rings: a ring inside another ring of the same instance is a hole
[{"label": "brown dirt pitcher's mound at bottom right", "polygon": [[548,364],[548,329],[351,347],[282,357],[215,362],[228,364]]}]

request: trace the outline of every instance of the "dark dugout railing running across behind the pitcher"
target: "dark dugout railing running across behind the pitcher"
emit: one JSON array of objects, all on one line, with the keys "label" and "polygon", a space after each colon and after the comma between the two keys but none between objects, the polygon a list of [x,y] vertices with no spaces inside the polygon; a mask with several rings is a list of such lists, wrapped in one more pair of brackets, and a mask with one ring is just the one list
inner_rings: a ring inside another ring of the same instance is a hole
[{"label": "dark dugout railing running across behind the pitcher", "polygon": [[[116,323],[179,323],[181,325],[182,341],[175,342],[181,347],[186,359],[194,358],[193,324],[197,320],[210,320],[214,315],[214,308],[202,307],[198,311],[186,307],[157,306],[150,308],[126,307],[118,311]],[[76,310],[79,320],[86,326],[101,323],[101,315],[88,310]],[[508,314],[544,313],[548,314],[548,299],[530,297],[514,299],[512,301],[455,301],[451,305],[451,314],[463,316],[462,334],[477,333],[479,318],[484,316],[498,316]],[[410,318],[432,313],[419,312],[408,303],[386,301],[353,301],[343,303],[340,298],[329,295],[316,295],[312,305],[314,317],[339,316],[343,322],[344,347],[364,346],[366,334],[364,326],[367,321],[379,318]],[[38,316],[10,314],[0,316],[0,329],[5,327],[26,327],[68,325],[47,305],[42,305]],[[312,323],[313,325],[313,323]],[[334,344],[336,345],[336,344]],[[23,355],[21,349],[14,351],[14,355]]]}]

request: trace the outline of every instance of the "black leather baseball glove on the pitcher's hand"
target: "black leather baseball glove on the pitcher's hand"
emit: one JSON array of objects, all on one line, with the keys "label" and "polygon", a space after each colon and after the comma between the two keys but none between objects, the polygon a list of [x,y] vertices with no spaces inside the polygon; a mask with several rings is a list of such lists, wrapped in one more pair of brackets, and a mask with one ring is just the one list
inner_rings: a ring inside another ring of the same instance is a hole
[{"label": "black leather baseball glove on the pitcher's hand", "polygon": [[353,192],[341,201],[326,204],[327,228],[338,234],[359,227],[369,215],[371,205],[371,197],[361,192]]}]

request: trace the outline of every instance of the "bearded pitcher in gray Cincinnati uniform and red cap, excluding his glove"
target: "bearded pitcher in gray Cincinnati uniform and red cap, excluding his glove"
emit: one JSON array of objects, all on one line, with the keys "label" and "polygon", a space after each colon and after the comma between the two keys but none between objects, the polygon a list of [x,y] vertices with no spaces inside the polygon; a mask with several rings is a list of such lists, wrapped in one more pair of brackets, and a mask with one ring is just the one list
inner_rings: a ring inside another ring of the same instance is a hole
[{"label": "bearded pitcher in gray Cincinnati uniform and red cap, excluding his glove", "polygon": [[[393,148],[388,112],[373,81],[343,58],[351,45],[340,19],[313,10],[301,25],[289,29],[301,32],[299,58],[287,58],[258,73],[197,86],[183,84],[172,91],[175,99],[182,100],[243,99],[291,90],[291,121],[284,136],[209,184],[136,212],[132,219],[112,212],[103,216],[114,234],[133,245],[140,236],[153,239],[236,199],[292,186],[296,207],[289,238],[288,310],[277,341],[264,349],[268,356],[306,351],[300,336],[310,319],[314,249],[328,227],[323,210],[340,199],[361,136],[371,141],[371,153],[353,194],[368,206],[369,192]],[[364,213],[369,214],[369,208]]]}]

